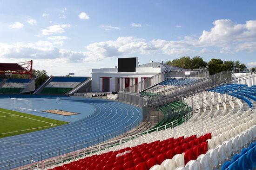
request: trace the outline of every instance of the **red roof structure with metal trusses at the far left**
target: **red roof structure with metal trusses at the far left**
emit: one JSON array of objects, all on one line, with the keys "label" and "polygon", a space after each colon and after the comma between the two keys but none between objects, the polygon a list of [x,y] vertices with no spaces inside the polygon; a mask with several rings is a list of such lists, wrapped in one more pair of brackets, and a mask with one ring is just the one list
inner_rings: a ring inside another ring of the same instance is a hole
[{"label": "red roof structure with metal trusses at the far left", "polygon": [[29,75],[32,78],[33,60],[22,63],[0,63],[0,74]]}]

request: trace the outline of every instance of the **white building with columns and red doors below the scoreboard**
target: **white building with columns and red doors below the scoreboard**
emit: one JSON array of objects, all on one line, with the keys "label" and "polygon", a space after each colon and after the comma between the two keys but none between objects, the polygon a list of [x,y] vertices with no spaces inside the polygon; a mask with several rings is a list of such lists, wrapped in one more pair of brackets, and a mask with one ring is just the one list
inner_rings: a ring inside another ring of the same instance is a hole
[{"label": "white building with columns and red doors below the scoreboard", "polygon": [[167,64],[151,62],[136,64],[135,72],[118,72],[118,68],[92,69],[92,91],[94,92],[118,92],[121,89],[141,82],[148,77],[155,76],[165,70],[178,70]]}]

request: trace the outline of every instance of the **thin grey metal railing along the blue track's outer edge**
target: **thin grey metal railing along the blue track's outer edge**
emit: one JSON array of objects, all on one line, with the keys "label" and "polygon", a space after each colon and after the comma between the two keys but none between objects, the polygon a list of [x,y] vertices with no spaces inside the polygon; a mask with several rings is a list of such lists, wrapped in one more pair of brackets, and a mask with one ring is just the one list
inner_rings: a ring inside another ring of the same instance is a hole
[{"label": "thin grey metal railing along the blue track's outer edge", "polygon": [[2,162],[0,163],[0,170],[11,170],[16,167],[21,167],[23,165],[27,165],[31,163],[31,160],[39,162],[45,159],[49,159],[51,157],[58,157],[63,154],[67,154],[70,152],[74,151],[79,151],[83,148],[89,148],[95,145],[99,145],[102,143],[105,143],[108,140],[115,139],[116,137],[119,137],[123,134],[125,134],[128,131],[133,130],[135,127],[139,126],[142,123],[142,120],[135,122],[134,124],[127,126],[123,129],[120,129],[116,132],[109,133],[107,135],[88,140],[82,143],[74,144],[74,145],[69,145],[67,147],[60,147],[51,151],[46,151],[42,152],[40,154],[32,155],[29,157],[23,157],[21,159],[16,159],[13,161],[8,161],[8,162]]}]

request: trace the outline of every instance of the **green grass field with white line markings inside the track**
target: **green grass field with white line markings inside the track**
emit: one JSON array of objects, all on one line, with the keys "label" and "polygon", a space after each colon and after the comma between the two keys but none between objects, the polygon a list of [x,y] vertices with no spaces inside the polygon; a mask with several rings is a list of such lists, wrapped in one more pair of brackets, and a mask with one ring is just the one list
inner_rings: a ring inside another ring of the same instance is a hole
[{"label": "green grass field with white line markings inside the track", "polygon": [[0,108],[0,138],[40,131],[67,123]]}]

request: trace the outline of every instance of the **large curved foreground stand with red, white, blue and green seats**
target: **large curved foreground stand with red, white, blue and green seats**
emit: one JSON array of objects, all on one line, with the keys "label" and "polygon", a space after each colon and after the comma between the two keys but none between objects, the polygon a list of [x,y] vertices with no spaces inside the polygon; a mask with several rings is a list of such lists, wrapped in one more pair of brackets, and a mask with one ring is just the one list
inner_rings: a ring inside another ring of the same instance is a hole
[{"label": "large curved foreground stand with red, white, blue and green seats", "polygon": [[[86,150],[81,150],[82,156],[77,154],[79,151],[70,153],[73,158],[66,162],[63,161],[63,156],[60,156],[59,164],[46,165],[46,169],[247,170],[254,168],[256,110],[253,109],[256,106],[256,85],[227,83],[231,82],[231,79],[228,79],[228,74],[224,76],[225,82],[216,82],[219,83],[217,85],[212,83],[214,81],[211,78],[205,79],[206,83],[203,83],[207,90],[201,86],[201,91],[199,88],[192,89],[195,91],[191,90],[190,93],[184,91],[187,94],[182,97],[177,93],[179,99],[176,101],[168,101],[170,99],[167,98],[161,103],[153,103],[155,109],[159,109],[165,117],[155,130],[120,139],[118,143],[107,144],[104,149],[101,145],[88,148],[88,154]],[[255,80],[253,76],[255,75],[251,75],[248,82]],[[247,78],[243,80],[245,79]],[[189,83],[191,82],[184,82],[182,86],[185,87]],[[166,85],[162,84],[162,86]],[[157,98],[159,94],[142,92],[140,96]],[[125,97],[131,99],[128,94]],[[188,120],[180,123],[180,119],[187,116]],[[172,124],[173,120],[178,122],[177,126],[161,129],[162,126]],[[57,162],[56,159],[55,157],[54,163]]]}]

